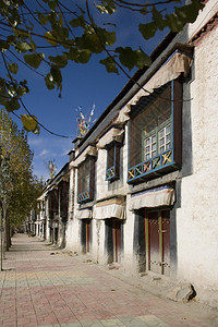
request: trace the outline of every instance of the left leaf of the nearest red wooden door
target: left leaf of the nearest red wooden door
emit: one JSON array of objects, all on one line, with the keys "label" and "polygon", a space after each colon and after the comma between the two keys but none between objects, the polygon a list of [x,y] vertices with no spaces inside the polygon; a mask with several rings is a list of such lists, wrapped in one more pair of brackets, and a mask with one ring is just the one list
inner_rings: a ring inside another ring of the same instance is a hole
[{"label": "left leaf of the nearest red wooden door", "polygon": [[148,269],[160,272],[158,211],[148,213]]}]

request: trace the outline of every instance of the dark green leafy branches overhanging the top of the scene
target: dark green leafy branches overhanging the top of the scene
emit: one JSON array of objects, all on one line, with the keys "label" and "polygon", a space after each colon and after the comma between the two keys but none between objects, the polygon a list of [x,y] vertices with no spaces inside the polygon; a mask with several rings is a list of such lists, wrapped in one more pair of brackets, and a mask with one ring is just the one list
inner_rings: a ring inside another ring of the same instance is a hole
[{"label": "dark green leafy branches overhanging the top of the scene", "polygon": [[[29,92],[27,81],[17,81],[21,64],[40,73],[48,89],[61,96],[62,73],[70,61],[87,63],[93,55],[105,53],[99,62],[109,73],[150,64],[142,48],[120,46],[119,26],[113,15],[130,12],[136,15],[138,33],[145,40],[168,27],[180,32],[185,23],[195,21],[199,0],[0,0],[0,50],[4,74],[0,75],[0,104],[8,111],[19,110],[22,97]],[[46,69],[45,69],[46,66]],[[36,117],[22,117],[27,131],[39,132]]]}]

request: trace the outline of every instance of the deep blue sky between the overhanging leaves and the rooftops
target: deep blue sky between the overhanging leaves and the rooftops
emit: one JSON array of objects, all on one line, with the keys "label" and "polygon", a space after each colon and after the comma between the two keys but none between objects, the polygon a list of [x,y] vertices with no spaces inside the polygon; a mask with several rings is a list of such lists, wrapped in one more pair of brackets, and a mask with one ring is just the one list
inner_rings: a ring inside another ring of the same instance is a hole
[{"label": "deep blue sky between the overhanging leaves and the rooftops", "polygon": [[[132,46],[134,49],[141,46],[148,55],[167,33],[166,31],[158,33],[154,39],[146,43],[137,32],[136,17],[117,14],[114,21],[121,22],[118,33],[119,45]],[[26,69],[21,70],[20,76],[23,75],[28,81],[31,89],[23,98],[25,106],[50,131],[70,137],[57,137],[43,129],[39,135],[28,134],[28,143],[34,152],[34,173],[38,178],[49,178],[46,167],[49,159],[56,160],[58,171],[69,160],[68,153],[73,148],[72,141],[76,136],[76,109],[82,107],[83,113],[89,113],[95,104],[94,119],[97,119],[128,83],[128,77],[122,73],[120,75],[107,73],[105,66],[98,62],[105,57],[105,55],[100,58],[93,57],[87,64],[70,62],[62,71],[61,98],[58,97],[57,90],[47,90],[41,76]],[[41,65],[40,72],[45,73],[46,69]],[[17,113],[22,114],[25,111],[21,109]],[[19,119],[14,116],[13,119],[21,126]]]}]

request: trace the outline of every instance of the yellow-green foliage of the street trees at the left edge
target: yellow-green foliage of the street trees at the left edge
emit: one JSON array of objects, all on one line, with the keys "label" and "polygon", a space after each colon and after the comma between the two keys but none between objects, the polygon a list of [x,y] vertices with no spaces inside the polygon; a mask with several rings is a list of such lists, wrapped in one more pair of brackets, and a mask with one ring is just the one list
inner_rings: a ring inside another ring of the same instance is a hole
[{"label": "yellow-green foliage of the street trees at the left edge", "polygon": [[5,110],[0,111],[0,204],[7,202],[8,221],[20,225],[32,208],[43,186],[33,175],[33,153],[25,131],[19,131]]}]

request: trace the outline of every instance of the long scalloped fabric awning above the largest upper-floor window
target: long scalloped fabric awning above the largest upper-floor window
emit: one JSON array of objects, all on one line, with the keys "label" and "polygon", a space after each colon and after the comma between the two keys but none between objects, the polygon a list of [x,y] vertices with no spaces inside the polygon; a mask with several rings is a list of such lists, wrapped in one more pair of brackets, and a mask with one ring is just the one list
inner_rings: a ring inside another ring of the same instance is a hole
[{"label": "long scalloped fabric awning above the largest upper-floor window", "polygon": [[120,110],[116,123],[124,123],[130,119],[129,112],[131,106],[137,104],[141,97],[150,95],[154,89],[167,84],[170,81],[178,78],[182,73],[186,77],[192,65],[192,58],[190,56],[177,50],[162,64],[162,66],[153,75],[153,77],[140,89],[134,97]]}]

